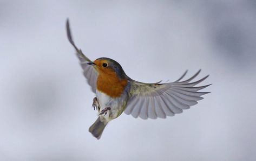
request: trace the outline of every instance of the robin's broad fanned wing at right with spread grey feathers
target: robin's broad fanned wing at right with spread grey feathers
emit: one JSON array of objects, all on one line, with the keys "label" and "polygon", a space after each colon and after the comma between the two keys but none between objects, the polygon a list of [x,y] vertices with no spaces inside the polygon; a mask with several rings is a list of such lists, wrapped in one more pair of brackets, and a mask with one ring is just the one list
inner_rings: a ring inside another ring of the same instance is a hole
[{"label": "robin's broad fanned wing at right with spread grey feathers", "polygon": [[127,102],[127,107],[124,113],[131,114],[133,117],[147,118],[166,118],[166,116],[174,116],[182,113],[182,110],[198,103],[204,99],[201,95],[209,92],[198,92],[200,89],[208,87],[198,86],[198,83],[204,81],[209,75],[204,78],[191,82],[199,73],[199,70],[192,78],[180,81],[187,73],[181,76],[180,79],[170,83],[142,83],[130,81],[130,99]]}]

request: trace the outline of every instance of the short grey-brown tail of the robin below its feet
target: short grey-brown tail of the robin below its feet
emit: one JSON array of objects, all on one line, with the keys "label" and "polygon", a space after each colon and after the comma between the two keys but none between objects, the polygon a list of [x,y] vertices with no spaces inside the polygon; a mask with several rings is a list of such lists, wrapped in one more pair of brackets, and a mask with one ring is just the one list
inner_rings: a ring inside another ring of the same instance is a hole
[{"label": "short grey-brown tail of the robin below its feet", "polygon": [[94,124],[91,125],[91,127],[89,128],[89,132],[93,134],[93,136],[96,137],[97,139],[100,139],[107,123],[108,122],[101,121],[100,117],[98,117]]}]

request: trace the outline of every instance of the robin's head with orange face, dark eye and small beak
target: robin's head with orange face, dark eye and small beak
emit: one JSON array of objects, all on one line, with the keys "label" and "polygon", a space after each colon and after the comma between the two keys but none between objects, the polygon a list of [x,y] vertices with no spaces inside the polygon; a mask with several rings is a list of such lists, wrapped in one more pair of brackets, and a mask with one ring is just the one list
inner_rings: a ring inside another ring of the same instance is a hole
[{"label": "robin's head with orange face, dark eye and small beak", "polygon": [[114,75],[117,78],[127,78],[122,66],[115,60],[110,58],[98,58],[93,62],[88,62],[88,65],[94,66],[99,74]]}]

